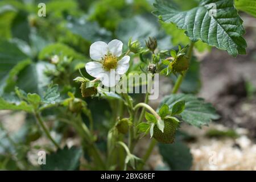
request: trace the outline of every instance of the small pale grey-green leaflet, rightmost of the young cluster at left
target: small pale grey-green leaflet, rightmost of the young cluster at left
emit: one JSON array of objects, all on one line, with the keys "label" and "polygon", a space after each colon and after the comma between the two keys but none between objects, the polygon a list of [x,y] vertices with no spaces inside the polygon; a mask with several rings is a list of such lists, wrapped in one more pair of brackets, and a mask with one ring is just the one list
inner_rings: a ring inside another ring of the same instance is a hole
[{"label": "small pale grey-green leaflet, rightmost of the young cluster at left", "polygon": [[55,84],[49,86],[43,97],[43,102],[46,104],[55,104],[60,97],[59,85]]}]

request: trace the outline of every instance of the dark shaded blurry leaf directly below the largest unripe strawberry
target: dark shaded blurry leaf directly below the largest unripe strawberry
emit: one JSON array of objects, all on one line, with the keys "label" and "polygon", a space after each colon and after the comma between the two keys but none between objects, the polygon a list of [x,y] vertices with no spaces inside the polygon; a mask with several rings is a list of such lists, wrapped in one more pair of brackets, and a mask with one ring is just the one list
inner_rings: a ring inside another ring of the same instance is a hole
[{"label": "dark shaded blurry leaf directly below the largest unripe strawberry", "polygon": [[182,142],[176,141],[173,144],[159,143],[159,151],[164,162],[171,170],[189,170],[192,166],[192,155],[189,148]]}]

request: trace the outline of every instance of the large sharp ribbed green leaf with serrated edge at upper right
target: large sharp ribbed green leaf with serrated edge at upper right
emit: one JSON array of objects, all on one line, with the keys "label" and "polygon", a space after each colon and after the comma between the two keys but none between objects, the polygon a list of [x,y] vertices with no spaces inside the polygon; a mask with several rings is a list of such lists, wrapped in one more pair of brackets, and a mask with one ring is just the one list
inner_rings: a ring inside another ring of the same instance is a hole
[{"label": "large sharp ribbed green leaf with serrated edge at upper right", "polygon": [[[212,3],[217,6],[216,15]],[[200,39],[210,46],[228,51],[232,56],[246,53],[247,44],[242,38],[245,29],[233,0],[202,0],[199,7],[188,11],[179,11],[166,0],[156,0],[154,6],[155,15],[186,30],[193,42]]]}]

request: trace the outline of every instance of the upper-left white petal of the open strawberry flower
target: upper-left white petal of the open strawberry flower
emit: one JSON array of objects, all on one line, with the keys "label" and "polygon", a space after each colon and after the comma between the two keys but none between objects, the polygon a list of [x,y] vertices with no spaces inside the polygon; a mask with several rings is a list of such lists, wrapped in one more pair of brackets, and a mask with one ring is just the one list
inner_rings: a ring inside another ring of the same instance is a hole
[{"label": "upper-left white petal of the open strawberry flower", "polygon": [[105,42],[98,41],[90,45],[90,58],[99,61],[108,53],[108,45]]}]

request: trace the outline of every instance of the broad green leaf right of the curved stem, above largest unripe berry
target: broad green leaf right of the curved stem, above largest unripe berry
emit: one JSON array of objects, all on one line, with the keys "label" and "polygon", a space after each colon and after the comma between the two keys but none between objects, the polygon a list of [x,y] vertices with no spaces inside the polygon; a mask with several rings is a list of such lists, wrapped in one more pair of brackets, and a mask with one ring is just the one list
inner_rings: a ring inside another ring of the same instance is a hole
[{"label": "broad green leaf right of the curved stem, above largest unripe berry", "polygon": [[208,125],[212,119],[218,119],[220,116],[216,113],[214,107],[206,103],[202,98],[197,98],[191,94],[172,94],[163,98],[159,107],[167,104],[172,108],[176,102],[185,101],[185,109],[180,114],[183,121],[200,127],[201,125]]}]

